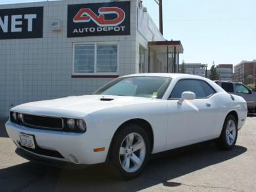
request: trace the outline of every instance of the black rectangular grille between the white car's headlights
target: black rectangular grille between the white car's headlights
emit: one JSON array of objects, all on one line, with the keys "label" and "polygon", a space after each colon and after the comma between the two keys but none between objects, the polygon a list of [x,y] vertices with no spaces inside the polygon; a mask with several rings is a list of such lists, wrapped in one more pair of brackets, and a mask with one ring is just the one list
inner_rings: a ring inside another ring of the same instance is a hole
[{"label": "black rectangular grille between the white car's headlights", "polygon": [[61,118],[26,115],[26,114],[24,114],[23,124],[26,126],[32,126],[35,128],[62,129],[64,127],[63,120]]}]

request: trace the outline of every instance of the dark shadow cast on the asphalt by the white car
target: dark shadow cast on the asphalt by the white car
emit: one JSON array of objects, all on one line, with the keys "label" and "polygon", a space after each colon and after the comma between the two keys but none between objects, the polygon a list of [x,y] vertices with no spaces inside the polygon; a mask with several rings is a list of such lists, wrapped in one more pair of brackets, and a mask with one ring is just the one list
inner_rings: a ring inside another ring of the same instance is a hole
[{"label": "dark shadow cast on the asphalt by the white car", "polygon": [[177,187],[181,183],[169,180],[222,163],[245,151],[240,145],[231,151],[220,151],[213,144],[200,144],[161,153],[150,159],[139,178],[129,181],[116,179],[103,164],[68,170],[28,162],[0,170],[0,191],[140,191],[160,183]]}]

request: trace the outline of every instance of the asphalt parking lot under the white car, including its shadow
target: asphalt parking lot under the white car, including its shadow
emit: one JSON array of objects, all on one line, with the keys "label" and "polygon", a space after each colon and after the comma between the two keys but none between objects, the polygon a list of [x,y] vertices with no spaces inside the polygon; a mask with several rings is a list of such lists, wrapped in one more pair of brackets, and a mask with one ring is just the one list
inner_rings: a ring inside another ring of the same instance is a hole
[{"label": "asphalt parking lot under the white car, including its shadow", "polygon": [[214,144],[170,151],[128,182],[113,178],[104,165],[51,168],[14,150],[0,121],[0,191],[256,191],[256,115],[248,115],[232,151],[219,151]]}]

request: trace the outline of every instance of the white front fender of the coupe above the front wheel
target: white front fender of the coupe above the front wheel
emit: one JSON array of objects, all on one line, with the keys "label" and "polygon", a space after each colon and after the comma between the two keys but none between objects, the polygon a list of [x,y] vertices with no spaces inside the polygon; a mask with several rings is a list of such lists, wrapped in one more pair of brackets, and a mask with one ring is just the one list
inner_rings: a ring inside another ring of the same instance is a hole
[{"label": "white front fender of the coupe above the front wheel", "polygon": [[144,119],[152,126],[154,133],[153,153],[164,150],[167,138],[167,102],[165,100],[103,109],[91,113],[90,117],[92,128],[96,128],[98,135],[104,140],[112,139],[123,123],[131,119]]}]

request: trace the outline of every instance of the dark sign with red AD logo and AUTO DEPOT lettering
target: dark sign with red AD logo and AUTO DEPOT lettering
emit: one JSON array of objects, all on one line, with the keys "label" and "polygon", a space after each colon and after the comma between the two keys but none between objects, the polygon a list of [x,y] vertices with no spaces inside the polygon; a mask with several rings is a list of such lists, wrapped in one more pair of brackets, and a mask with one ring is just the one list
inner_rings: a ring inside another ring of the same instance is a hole
[{"label": "dark sign with red AD logo and AUTO DEPOT lettering", "polygon": [[130,1],[68,5],[68,37],[130,35]]}]

